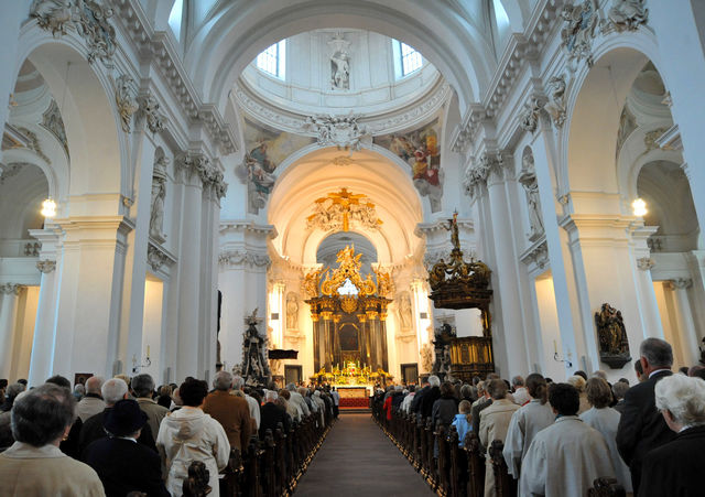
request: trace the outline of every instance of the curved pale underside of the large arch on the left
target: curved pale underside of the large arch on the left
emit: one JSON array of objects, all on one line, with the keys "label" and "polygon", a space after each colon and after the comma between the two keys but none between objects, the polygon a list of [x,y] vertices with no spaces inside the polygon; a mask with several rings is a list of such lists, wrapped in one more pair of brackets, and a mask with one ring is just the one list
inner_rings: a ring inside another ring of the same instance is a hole
[{"label": "curved pale underside of the large arch on the left", "polygon": [[[86,48],[75,34],[55,40],[31,23],[23,26],[19,46],[14,77],[30,60],[59,105],[70,155],[67,194],[117,198],[127,193],[128,137],[120,131],[109,73],[101,63],[87,62]],[[113,213],[117,208],[116,203]]]}]

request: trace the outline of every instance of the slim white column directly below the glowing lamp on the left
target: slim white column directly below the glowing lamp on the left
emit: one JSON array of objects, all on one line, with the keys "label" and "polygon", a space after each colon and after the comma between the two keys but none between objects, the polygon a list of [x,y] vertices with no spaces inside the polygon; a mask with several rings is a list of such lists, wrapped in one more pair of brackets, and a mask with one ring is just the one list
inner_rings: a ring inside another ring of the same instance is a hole
[{"label": "slim white column directly below the glowing lamp on the left", "polygon": [[56,341],[56,310],[58,305],[58,281],[56,251],[61,230],[45,227],[30,229],[30,235],[42,242],[37,269],[42,272],[40,299],[34,322],[32,356],[30,359],[30,387],[42,385],[54,370],[54,344]]}]

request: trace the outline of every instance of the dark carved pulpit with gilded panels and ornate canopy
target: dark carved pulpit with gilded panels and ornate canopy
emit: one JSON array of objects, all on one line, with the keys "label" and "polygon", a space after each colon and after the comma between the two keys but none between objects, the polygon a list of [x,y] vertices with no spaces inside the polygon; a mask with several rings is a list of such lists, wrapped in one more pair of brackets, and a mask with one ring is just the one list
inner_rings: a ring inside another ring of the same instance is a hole
[{"label": "dark carved pulpit with gilded panels and ornate canopy", "polygon": [[489,310],[492,290],[489,289],[491,271],[485,262],[463,257],[458,236],[457,212],[448,219],[453,249],[448,262],[444,259],[427,268],[429,285],[436,309],[479,309],[482,321],[482,336],[458,338],[448,334],[449,326],[435,333],[435,356],[433,371],[449,372],[455,378],[470,380],[474,375],[485,375],[495,370],[492,352],[492,316]]}]

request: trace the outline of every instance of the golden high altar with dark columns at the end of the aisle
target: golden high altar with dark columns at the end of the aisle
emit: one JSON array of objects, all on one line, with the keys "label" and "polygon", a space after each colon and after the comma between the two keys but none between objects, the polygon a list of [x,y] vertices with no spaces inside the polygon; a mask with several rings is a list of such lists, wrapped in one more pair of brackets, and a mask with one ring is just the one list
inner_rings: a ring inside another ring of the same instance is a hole
[{"label": "golden high altar with dark columns at the end of the aisle", "polygon": [[337,253],[338,268],[308,272],[303,289],[314,324],[314,368],[333,375],[334,365],[345,368],[354,363],[360,375],[367,374],[359,382],[368,383],[377,370],[388,370],[386,321],[393,285],[381,268],[375,270],[375,279],[364,277],[360,258],[355,246],[346,246]]}]

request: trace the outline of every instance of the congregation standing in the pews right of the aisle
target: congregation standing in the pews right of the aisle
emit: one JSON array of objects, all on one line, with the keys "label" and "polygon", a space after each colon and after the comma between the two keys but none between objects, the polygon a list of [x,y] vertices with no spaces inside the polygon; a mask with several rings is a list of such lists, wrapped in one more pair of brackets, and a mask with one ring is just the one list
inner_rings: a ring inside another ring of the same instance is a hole
[{"label": "congregation standing in the pews right of the aisle", "polygon": [[[485,497],[498,495],[499,488],[491,446],[502,447],[499,458],[513,479],[503,496],[587,496],[598,478],[611,485],[614,495],[699,496],[705,367],[673,374],[672,366],[671,345],[647,338],[634,361],[637,385],[626,378],[610,385],[603,370],[589,376],[578,370],[566,382],[539,374],[511,381],[490,374],[485,380],[473,378],[471,383],[453,378],[442,382],[430,376],[419,388],[379,389],[373,411],[392,439],[403,439],[398,445],[414,454],[410,460],[421,453],[419,465],[431,465],[430,473],[460,475],[449,488],[441,488],[448,495],[457,495],[454,485],[467,487],[471,495],[470,472],[467,465],[446,469],[440,442],[453,440],[464,447],[477,437],[486,469],[477,495]],[[423,435],[414,434],[424,426],[432,426],[432,461],[420,449]]]}]

